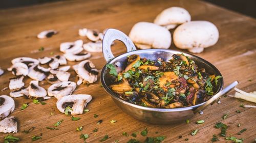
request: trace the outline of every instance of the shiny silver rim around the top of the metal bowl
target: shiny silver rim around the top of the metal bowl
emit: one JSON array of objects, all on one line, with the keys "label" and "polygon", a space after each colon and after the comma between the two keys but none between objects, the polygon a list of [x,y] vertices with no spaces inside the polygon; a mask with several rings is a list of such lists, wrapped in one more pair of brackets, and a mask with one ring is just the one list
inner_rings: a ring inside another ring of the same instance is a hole
[{"label": "shiny silver rim around the top of the metal bowl", "polygon": [[[114,59],[112,59],[111,61],[109,61],[108,63],[106,63],[104,65],[104,67],[102,68],[102,71],[101,71],[101,74],[100,74],[100,81],[101,81],[101,84],[102,84],[102,87],[104,88],[104,90],[106,92],[108,92],[112,98],[116,99],[117,101],[119,101],[119,102],[121,102],[123,104],[132,106],[134,108],[139,108],[139,109],[142,109],[142,110],[147,110],[147,111],[177,112],[177,111],[193,110],[193,109],[196,109],[197,107],[205,104],[206,101],[202,102],[200,104],[197,104],[197,105],[181,107],[181,108],[171,108],[171,109],[152,108],[152,107],[144,107],[144,106],[136,105],[136,104],[127,102],[127,101],[122,100],[121,98],[115,96],[115,93],[105,84],[105,80],[103,78],[104,73],[106,71],[106,65],[112,63],[113,61],[115,61],[115,60],[117,60],[117,59],[119,59],[119,58],[121,58],[123,56],[131,55],[131,54],[136,54],[136,53],[143,53],[143,52],[155,52],[155,51],[163,51],[163,52],[172,51],[172,52],[181,53],[181,51],[171,50],[171,49],[142,49],[142,50],[135,50],[135,51],[130,51],[130,52],[126,52],[126,53],[120,54],[120,55],[116,56]],[[182,53],[184,53],[185,55],[194,56],[195,58],[199,59],[199,61],[203,61],[203,62],[207,63],[211,68],[213,68],[217,72],[218,75],[222,76],[221,72],[214,65],[212,65],[210,62],[208,62],[208,61],[206,61],[206,60],[204,60],[204,59],[202,59],[199,56],[196,56],[194,54],[190,54],[190,53],[186,53],[186,52],[182,52]],[[223,85],[224,85],[224,81],[223,81],[223,78],[221,78],[220,88],[218,89],[218,91],[214,95],[216,95],[217,93],[219,93],[223,89]],[[212,96],[214,96],[214,95],[212,95]]]}]

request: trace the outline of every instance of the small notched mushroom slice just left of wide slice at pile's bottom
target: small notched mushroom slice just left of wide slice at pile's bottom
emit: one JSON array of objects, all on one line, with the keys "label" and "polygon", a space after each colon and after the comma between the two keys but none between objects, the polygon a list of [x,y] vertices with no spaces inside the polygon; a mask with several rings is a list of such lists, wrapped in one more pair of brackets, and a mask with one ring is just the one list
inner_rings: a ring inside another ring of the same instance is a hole
[{"label": "small notched mushroom slice just left of wide slice at pile's bottom", "polygon": [[45,97],[47,92],[44,88],[39,87],[38,80],[32,80],[29,83],[29,96],[32,97]]}]

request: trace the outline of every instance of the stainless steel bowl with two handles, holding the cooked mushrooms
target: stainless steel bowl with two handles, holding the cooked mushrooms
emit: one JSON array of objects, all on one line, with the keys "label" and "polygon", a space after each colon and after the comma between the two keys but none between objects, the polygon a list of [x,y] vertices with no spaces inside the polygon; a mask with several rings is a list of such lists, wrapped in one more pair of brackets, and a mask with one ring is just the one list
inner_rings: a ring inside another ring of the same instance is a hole
[{"label": "stainless steel bowl with two handles, holding the cooked mushrooms", "polygon": [[[122,41],[127,48],[127,53],[114,57],[114,55],[111,52],[111,43],[114,40]],[[169,50],[169,49],[136,50],[135,45],[129,39],[129,37],[127,37],[124,33],[114,29],[109,29],[105,33],[103,42],[102,42],[102,49],[103,49],[104,58],[108,62],[107,64],[115,65],[118,72],[122,71],[125,68],[128,55],[138,54],[141,58],[146,58],[150,60],[157,60],[158,58],[161,57],[164,61],[167,61],[172,58],[173,54],[181,53],[180,51]],[[214,65],[210,64],[204,59],[199,58],[196,55],[192,55],[188,53],[184,53],[184,54],[188,56],[191,60],[194,60],[195,63],[199,66],[199,68],[205,68],[208,73],[221,76],[220,71]],[[107,70],[105,65],[101,71],[101,76],[100,76],[101,83],[103,85],[103,88],[106,90],[106,92],[110,94],[110,96],[112,97],[116,105],[119,106],[124,112],[126,112],[128,115],[132,116],[133,118],[140,120],[142,122],[147,122],[152,124],[170,124],[170,123],[176,123],[176,122],[184,122],[186,119],[189,119],[195,115],[196,109],[199,109],[199,107],[201,107],[200,110],[203,109],[205,106],[207,106],[208,104],[218,99],[221,95],[223,95],[224,92],[229,91],[234,86],[233,84],[231,87],[229,87],[229,89],[222,91],[223,79],[221,78],[216,88],[214,88],[214,92],[216,93],[216,95],[213,97],[215,98],[212,97],[211,101],[208,100],[207,104],[205,104],[206,102],[203,102],[194,106],[173,108],[173,109],[151,108],[151,107],[136,105],[120,99],[118,95],[109,88],[111,83],[110,83],[110,80],[108,79],[108,76],[106,76],[109,73],[106,71]],[[222,92],[220,93],[220,91]]]}]

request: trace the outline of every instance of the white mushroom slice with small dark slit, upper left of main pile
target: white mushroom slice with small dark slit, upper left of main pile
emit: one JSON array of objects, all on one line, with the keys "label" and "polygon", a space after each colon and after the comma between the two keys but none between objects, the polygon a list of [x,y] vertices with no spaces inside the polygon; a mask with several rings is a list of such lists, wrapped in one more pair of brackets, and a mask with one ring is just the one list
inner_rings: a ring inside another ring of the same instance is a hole
[{"label": "white mushroom slice with small dark slit, upper left of main pile", "polygon": [[60,44],[60,51],[64,53],[73,53],[77,54],[83,50],[82,48],[83,41],[76,40],[75,42],[65,42]]}]

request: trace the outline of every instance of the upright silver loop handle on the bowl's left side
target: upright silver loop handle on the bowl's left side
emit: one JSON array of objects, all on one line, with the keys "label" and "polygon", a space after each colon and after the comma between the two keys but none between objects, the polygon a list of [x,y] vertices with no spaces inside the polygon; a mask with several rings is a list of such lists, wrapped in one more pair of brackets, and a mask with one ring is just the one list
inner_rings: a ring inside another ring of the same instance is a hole
[{"label": "upright silver loop handle on the bowl's left side", "polygon": [[119,30],[110,28],[106,31],[102,40],[102,52],[106,62],[109,62],[115,58],[111,51],[111,43],[115,40],[123,42],[123,44],[126,46],[127,52],[136,50],[133,41],[128,36]]}]

